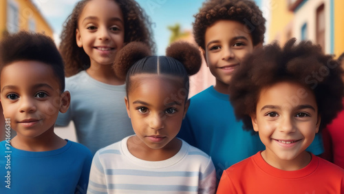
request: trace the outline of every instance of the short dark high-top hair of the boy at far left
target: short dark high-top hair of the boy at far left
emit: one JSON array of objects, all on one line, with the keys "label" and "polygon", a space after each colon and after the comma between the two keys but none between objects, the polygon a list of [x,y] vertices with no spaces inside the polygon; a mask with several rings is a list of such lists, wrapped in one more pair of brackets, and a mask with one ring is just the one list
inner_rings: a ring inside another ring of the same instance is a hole
[{"label": "short dark high-top hair of the boy at far left", "polygon": [[49,65],[61,92],[65,90],[63,59],[49,36],[22,31],[4,37],[0,43],[0,72],[3,67],[16,61],[39,61]]}]

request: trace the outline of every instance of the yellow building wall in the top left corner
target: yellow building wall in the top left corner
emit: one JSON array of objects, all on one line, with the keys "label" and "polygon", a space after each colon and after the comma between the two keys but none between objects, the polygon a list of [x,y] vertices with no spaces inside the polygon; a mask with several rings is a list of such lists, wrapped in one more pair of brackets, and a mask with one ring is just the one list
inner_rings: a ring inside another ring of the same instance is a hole
[{"label": "yellow building wall in the top left corner", "polygon": [[[0,39],[3,36],[3,31],[6,30],[6,21],[7,21],[7,1],[0,0]],[[50,25],[45,21],[41,12],[34,6],[30,0],[12,0],[19,5],[19,30],[29,30],[29,21],[30,19],[34,20],[36,29],[35,32],[44,33],[47,36],[54,38],[54,32]]]}]

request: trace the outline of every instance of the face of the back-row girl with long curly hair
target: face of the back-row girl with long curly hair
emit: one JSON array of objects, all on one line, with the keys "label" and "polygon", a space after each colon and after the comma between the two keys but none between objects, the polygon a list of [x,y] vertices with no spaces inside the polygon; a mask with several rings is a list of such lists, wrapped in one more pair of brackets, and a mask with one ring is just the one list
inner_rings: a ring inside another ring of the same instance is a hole
[{"label": "face of the back-row girl with long curly hair", "polygon": [[125,28],[122,10],[114,1],[89,1],[78,19],[76,43],[83,47],[91,65],[112,65],[123,46]]}]

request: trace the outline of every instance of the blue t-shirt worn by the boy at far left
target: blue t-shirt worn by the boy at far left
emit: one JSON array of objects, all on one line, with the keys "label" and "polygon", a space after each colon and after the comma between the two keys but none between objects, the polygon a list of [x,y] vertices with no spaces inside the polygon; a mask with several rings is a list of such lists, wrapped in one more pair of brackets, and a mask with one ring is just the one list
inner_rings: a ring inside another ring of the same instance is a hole
[{"label": "blue t-shirt worn by the boy at far left", "polygon": [[0,193],[86,193],[92,153],[67,141],[53,151],[23,151],[0,142]]}]

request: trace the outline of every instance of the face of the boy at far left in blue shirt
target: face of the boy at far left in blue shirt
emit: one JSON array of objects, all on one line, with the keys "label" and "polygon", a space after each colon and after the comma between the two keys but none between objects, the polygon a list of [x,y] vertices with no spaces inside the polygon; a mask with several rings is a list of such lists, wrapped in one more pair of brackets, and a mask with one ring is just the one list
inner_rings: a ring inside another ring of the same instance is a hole
[{"label": "face of the boy at far left in blue shirt", "polygon": [[67,111],[69,92],[61,86],[52,67],[38,61],[17,61],[1,71],[3,115],[21,138],[39,138],[53,132],[58,111]]}]

